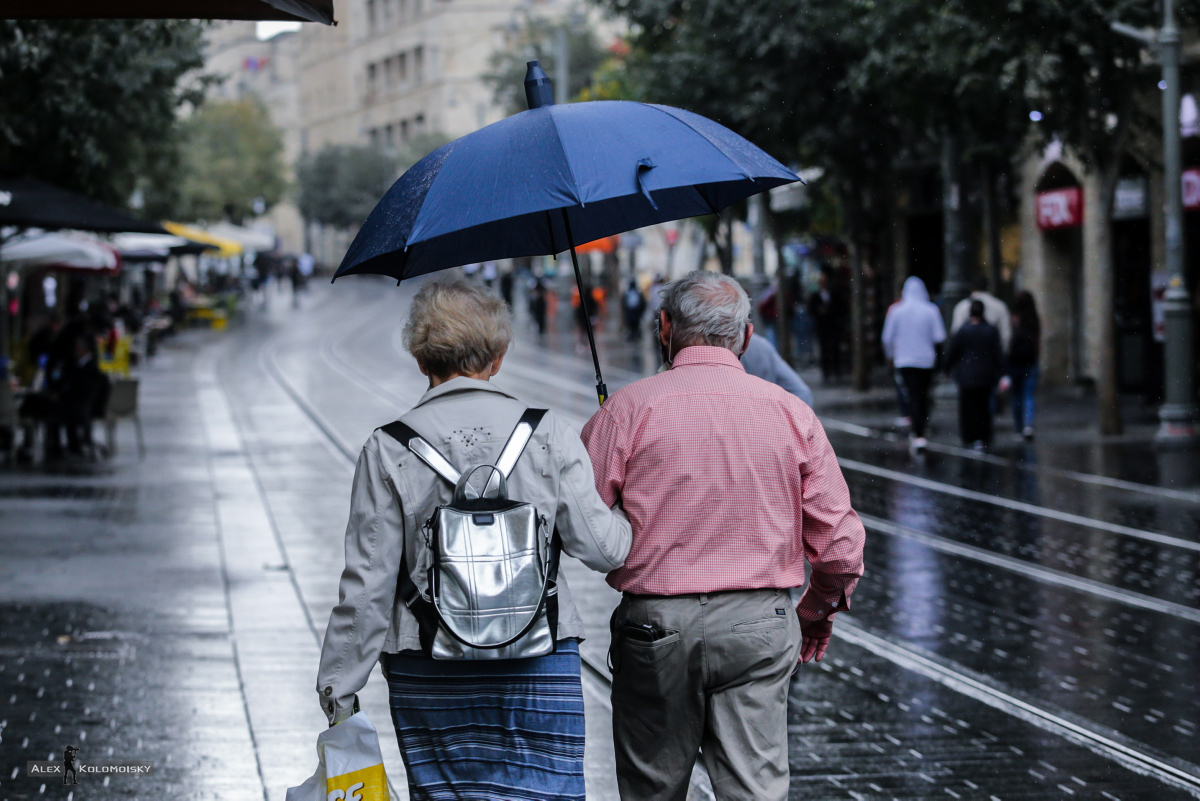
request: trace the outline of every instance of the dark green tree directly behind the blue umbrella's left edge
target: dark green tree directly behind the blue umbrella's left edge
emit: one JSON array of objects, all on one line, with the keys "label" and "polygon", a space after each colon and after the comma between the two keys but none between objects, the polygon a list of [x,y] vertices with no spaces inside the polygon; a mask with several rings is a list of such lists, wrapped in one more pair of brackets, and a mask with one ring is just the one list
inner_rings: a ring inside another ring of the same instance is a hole
[{"label": "dark green tree directly behind the blue umbrella's left edge", "polygon": [[389,152],[361,145],[329,145],[296,165],[296,200],[310,222],[347,229],[361,225],[396,177],[446,143],[440,133],[414,137]]}]

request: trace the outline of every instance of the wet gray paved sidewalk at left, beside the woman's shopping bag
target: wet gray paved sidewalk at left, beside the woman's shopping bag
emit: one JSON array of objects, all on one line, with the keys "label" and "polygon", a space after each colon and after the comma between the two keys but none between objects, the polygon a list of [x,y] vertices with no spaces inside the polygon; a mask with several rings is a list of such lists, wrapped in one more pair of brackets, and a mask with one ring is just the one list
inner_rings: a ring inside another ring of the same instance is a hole
[{"label": "wet gray paved sidewalk at left, beside the woman's shopping bag", "polygon": [[[144,369],[144,460],[122,427],[109,462],[0,469],[2,800],[276,801],[313,770],[317,636],[216,383],[220,336]],[[67,745],[154,775],[26,776]]]}]

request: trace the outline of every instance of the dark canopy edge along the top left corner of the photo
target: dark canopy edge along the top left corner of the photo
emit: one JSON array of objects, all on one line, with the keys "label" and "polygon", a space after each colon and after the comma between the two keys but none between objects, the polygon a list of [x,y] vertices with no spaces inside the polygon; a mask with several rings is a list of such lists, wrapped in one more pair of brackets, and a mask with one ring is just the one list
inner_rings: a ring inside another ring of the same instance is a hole
[{"label": "dark canopy edge along the top left corner of the photo", "polygon": [[336,24],[334,0],[5,0],[0,19],[280,19]]}]

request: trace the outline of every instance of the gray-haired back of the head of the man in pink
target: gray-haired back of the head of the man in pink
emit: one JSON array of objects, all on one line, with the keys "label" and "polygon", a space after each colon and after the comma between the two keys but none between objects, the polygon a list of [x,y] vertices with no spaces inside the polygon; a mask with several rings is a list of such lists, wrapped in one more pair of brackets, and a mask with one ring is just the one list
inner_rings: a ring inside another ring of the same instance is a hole
[{"label": "gray-haired back of the head of the man in pink", "polygon": [[706,344],[740,356],[750,323],[750,299],[742,284],[720,272],[697,270],[662,288],[661,309],[677,347]]}]

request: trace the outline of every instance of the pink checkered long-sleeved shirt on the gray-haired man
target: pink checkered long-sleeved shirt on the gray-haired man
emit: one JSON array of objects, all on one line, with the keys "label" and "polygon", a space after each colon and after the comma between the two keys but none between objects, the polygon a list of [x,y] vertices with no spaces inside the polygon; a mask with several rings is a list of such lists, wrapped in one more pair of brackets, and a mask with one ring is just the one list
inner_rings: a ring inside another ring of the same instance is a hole
[{"label": "pink checkered long-sleeved shirt on the gray-haired man", "polygon": [[866,537],[812,410],[725,348],[616,392],[583,427],[596,489],[634,547],[608,584],[638,595],[792,588],[803,620],[850,608]]}]

